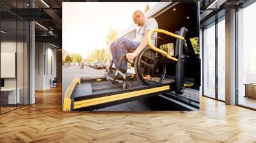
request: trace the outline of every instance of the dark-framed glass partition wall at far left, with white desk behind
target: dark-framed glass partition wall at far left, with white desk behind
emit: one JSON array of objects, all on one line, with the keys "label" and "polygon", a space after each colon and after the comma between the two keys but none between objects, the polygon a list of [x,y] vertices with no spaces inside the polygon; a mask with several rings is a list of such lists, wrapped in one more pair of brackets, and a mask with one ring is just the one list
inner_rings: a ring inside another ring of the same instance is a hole
[{"label": "dark-framed glass partition wall at far left, with white desk behind", "polygon": [[[1,1],[0,4],[9,3]],[[28,1],[12,1],[12,8],[28,8]],[[29,104],[29,22],[0,8],[0,114]],[[6,65],[9,61],[9,65]],[[14,66],[11,66],[14,65]],[[6,68],[11,70],[6,70]],[[6,74],[7,73],[7,74]]]}]

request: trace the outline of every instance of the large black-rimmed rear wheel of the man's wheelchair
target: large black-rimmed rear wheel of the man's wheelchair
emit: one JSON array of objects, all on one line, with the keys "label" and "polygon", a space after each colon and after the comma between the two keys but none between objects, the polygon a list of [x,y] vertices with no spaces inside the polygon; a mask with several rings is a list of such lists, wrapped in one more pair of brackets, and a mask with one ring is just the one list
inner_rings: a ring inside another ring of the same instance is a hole
[{"label": "large black-rimmed rear wheel of the man's wheelchair", "polygon": [[150,48],[136,57],[134,66],[136,76],[144,86],[161,84],[166,75],[164,56]]}]

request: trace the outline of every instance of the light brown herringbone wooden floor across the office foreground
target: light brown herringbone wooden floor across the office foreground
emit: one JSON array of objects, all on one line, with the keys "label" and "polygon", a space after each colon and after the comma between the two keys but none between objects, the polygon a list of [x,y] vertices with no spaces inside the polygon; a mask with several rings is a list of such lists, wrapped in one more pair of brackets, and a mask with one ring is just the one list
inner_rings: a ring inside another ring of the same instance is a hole
[{"label": "light brown herringbone wooden floor across the office foreground", "polygon": [[200,98],[196,112],[72,112],[61,88],[0,116],[0,142],[256,142],[256,112]]}]

